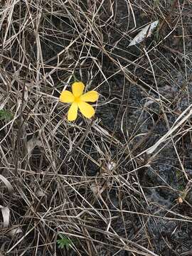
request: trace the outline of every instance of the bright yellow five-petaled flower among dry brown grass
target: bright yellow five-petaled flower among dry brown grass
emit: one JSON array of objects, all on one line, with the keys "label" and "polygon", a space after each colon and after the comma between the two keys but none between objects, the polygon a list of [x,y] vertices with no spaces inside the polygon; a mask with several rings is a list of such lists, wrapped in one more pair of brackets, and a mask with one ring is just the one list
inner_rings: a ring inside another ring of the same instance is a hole
[{"label": "bright yellow five-petaled flower among dry brown grass", "polygon": [[65,90],[60,94],[60,102],[72,103],[68,111],[68,120],[74,121],[78,116],[78,108],[80,112],[87,118],[91,118],[95,114],[94,108],[87,102],[95,102],[99,95],[96,91],[83,93],[85,85],[83,82],[73,82],[72,92]]}]

